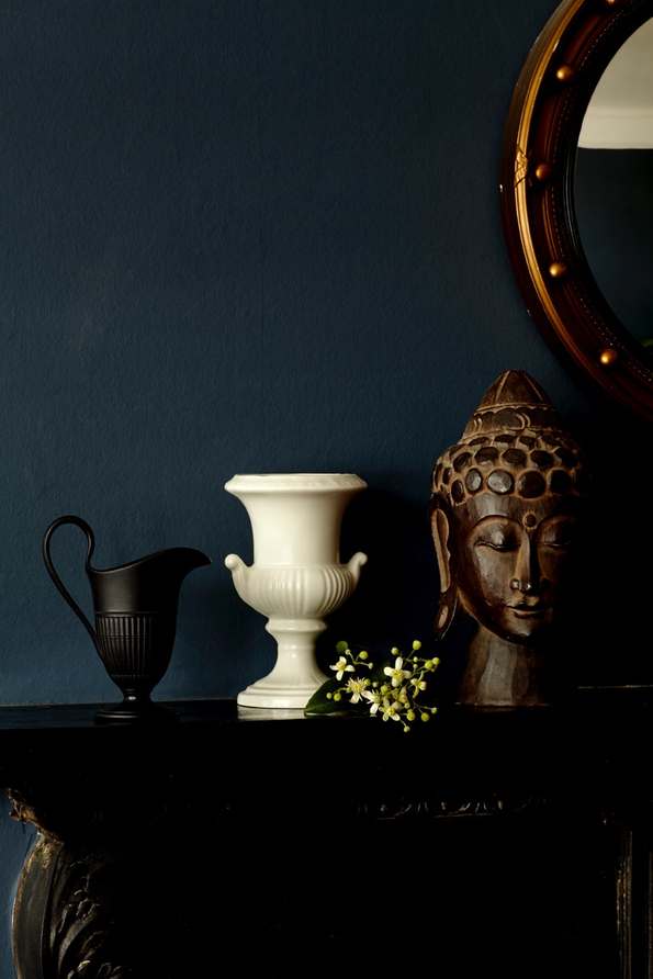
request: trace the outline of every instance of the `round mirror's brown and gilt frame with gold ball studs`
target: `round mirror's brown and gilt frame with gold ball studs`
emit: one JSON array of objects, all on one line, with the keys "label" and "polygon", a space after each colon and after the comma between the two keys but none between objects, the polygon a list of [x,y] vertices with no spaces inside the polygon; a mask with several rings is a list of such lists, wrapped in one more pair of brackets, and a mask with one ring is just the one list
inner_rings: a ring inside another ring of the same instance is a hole
[{"label": "round mirror's brown and gilt frame with gold ball studs", "polygon": [[504,230],[530,315],[585,375],[653,421],[653,362],[603,295],[574,209],[576,148],[613,55],[653,0],[563,0],[521,70],[506,124]]}]

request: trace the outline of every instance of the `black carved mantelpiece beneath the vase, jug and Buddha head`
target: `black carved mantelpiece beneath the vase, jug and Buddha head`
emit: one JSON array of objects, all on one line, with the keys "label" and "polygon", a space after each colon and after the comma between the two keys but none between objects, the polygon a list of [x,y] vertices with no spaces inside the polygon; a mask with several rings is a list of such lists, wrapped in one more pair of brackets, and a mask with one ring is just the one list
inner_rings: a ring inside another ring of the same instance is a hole
[{"label": "black carved mantelpiece beneath the vase, jug and Buddha head", "polygon": [[20,979],[650,977],[653,691],[392,721],[0,708]]}]

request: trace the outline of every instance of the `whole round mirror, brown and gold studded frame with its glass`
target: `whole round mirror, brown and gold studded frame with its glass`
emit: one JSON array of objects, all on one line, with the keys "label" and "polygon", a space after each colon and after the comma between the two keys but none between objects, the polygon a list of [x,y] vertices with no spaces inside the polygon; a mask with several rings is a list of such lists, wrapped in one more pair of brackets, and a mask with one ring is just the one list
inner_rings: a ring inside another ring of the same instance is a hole
[{"label": "whole round mirror, brown and gold studded frame with its glass", "polygon": [[502,172],[529,312],[653,420],[653,0],[564,0],[515,89]]}]

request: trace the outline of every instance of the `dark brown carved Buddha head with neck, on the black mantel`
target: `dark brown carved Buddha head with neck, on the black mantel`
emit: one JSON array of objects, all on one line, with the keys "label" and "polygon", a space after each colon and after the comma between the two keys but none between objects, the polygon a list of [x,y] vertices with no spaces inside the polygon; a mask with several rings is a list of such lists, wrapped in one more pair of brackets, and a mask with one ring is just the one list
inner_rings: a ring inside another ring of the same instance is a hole
[{"label": "dark brown carved Buddha head with neck, on the black mantel", "polygon": [[581,450],[522,371],[489,387],[432,476],[440,573],[437,631],[457,609],[477,623],[460,701],[539,706],[585,495]]}]

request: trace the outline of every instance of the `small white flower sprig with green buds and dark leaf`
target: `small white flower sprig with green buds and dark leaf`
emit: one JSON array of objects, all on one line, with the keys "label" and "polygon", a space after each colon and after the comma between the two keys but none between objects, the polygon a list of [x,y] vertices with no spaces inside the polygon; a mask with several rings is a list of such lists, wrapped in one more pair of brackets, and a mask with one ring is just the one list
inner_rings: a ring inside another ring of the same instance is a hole
[{"label": "small white flower sprig with green buds and dark leaf", "polygon": [[438,711],[428,704],[428,696],[430,677],[440,660],[418,655],[420,650],[418,639],[413,642],[407,656],[393,646],[390,651],[392,660],[374,669],[367,650],[353,652],[349,643],[339,642],[336,645],[338,660],[329,666],[335,678],[326,680],[313,695],[306,713],[364,710],[371,717],[401,722],[405,732],[418,719],[429,721]]}]

